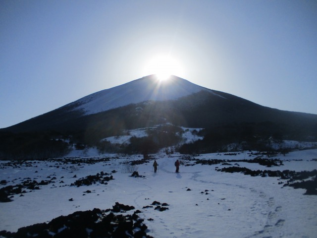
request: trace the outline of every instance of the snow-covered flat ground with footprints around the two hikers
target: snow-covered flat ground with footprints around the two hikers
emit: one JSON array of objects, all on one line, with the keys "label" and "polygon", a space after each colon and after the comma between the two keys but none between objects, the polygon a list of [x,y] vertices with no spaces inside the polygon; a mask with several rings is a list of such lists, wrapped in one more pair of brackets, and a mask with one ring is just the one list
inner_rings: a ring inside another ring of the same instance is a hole
[{"label": "snow-covered flat ground with footprints around the two hikers", "polygon": [[[180,155],[168,157],[161,153],[152,156],[159,164],[158,173],[152,171],[153,161],[136,166],[144,178],[130,177],[124,173],[126,165],[122,164],[127,160],[140,160],[143,158],[140,155],[83,157],[110,160],[79,165],[63,164],[62,158],[29,162],[32,166],[5,166],[7,161],[1,161],[0,180],[5,179],[7,184],[0,187],[20,183],[24,178],[41,181],[50,176],[56,180],[40,186],[39,190],[24,193],[24,196],[14,195],[12,202],[0,203],[0,231],[16,232],[20,227],[48,222],[60,215],[112,208],[115,202],[120,202],[142,211],[139,215],[148,226],[147,234],[155,238],[316,237],[317,196],[303,195],[304,189],[278,184],[286,180],[216,171],[216,167],[227,167],[221,164],[181,166],[180,173],[176,174],[174,161],[184,161]],[[250,152],[239,152],[192,158],[238,160],[255,157]],[[317,169],[317,161],[313,160],[317,159],[317,149],[294,151],[274,158],[283,160],[284,165],[270,168],[246,162],[239,162],[239,165],[253,170]],[[79,178],[101,171],[111,174],[113,170],[117,172],[112,174],[114,180],[108,184],[69,186]],[[77,178],[73,178],[74,175]],[[88,189],[92,192],[84,193]],[[73,201],[69,201],[70,198]],[[154,208],[143,208],[154,201],[169,204],[168,210],[159,212]],[[153,221],[147,220],[150,218]]]}]

